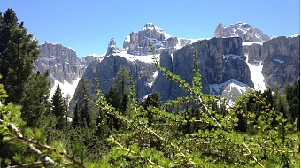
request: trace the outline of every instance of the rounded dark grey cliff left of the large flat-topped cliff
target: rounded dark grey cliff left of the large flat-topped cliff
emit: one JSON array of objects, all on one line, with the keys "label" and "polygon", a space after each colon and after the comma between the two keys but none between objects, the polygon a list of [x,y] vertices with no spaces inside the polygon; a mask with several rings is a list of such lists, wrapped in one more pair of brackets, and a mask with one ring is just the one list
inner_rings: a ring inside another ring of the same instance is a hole
[{"label": "rounded dark grey cliff left of the large flat-topped cliff", "polygon": [[[148,95],[151,92],[151,82],[156,68],[152,63],[141,61],[129,61],[118,55],[105,57],[101,62],[93,62],[86,69],[83,78],[94,84],[95,75],[99,80],[99,88],[105,94],[112,87],[116,73],[120,67],[126,67],[135,82],[135,92],[138,98]],[[139,80],[138,80],[139,79]],[[76,91],[75,91],[76,92]]]}]

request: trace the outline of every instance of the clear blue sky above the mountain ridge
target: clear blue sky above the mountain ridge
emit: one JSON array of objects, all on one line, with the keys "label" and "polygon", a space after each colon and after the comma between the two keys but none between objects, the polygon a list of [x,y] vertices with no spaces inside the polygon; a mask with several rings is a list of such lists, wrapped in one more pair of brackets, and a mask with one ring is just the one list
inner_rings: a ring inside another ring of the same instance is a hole
[{"label": "clear blue sky above the mountain ridge", "polygon": [[8,8],[39,43],[61,43],[78,57],[103,54],[111,38],[121,49],[148,22],[185,38],[213,37],[220,22],[249,23],[275,36],[300,33],[299,0],[0,0],[0,12]]}]

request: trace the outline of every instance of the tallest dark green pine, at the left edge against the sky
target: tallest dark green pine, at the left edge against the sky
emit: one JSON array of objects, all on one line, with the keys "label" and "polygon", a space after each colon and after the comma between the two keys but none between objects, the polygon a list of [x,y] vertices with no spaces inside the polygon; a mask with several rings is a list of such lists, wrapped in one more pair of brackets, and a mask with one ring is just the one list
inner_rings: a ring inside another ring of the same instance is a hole
[{"label": "tallest dark green pine, at the left edge against the sky", "polygon": [[37,41],[27,34],[23,22],[18,23],[12,9],[0,16],[0,72],[8,95],[7,102],[20,103],[24,86],[33,74],[33,61],[38,57]]}]

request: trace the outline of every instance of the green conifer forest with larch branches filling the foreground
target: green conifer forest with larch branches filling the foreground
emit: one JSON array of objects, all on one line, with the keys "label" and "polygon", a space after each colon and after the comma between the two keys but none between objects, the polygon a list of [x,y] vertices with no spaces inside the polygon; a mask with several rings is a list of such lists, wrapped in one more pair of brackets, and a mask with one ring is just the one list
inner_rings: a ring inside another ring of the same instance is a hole
[{"label": "green conifer forest with larch branches filling the foreground", "polygon": [[70,109],[59,85],[50,97],[49,73],[33,72],[38,42],[23,25],[0,13],[0,167],[300,167],[299,80],[230,105],[202,93],[196,52],[192,85],[154,54],[189,96],[138,100],[120,67],[106,93],[81,78]]}]

